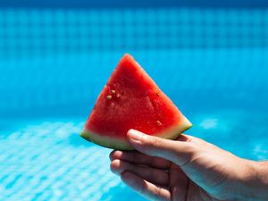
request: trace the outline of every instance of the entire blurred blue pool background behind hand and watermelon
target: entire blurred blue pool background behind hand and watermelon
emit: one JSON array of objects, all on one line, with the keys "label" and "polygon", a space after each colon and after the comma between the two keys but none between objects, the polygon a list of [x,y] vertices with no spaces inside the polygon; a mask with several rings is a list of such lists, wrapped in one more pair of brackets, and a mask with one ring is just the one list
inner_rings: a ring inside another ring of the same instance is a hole
[{"label": "entire blurred blue pool background behind hand and watermelon", "polygon": [[0,0],[0,200],[144,200],[79,137],[124,53],[189,134],[268,158],[268,2]]}]

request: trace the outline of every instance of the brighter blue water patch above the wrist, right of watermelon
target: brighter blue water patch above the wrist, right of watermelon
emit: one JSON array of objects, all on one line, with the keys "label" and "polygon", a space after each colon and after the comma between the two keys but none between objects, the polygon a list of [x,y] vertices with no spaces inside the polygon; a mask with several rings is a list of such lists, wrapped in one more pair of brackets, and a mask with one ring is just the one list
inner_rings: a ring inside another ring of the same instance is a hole
[{"label": "brighter blue water patch above the wrist, right of watermelon", "polygon": [[241,157],[254,160],[268,158],[266,113],[221,109],[196,113],[193,117],[196,126],[188,133],[204,138]]}]

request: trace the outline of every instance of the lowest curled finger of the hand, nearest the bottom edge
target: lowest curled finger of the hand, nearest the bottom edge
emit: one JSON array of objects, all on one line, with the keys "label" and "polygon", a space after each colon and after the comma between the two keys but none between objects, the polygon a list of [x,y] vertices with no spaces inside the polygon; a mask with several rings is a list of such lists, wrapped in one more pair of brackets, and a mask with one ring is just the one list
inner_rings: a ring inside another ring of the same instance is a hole
[{"label": "lowest curled finger of the hand, nearest the bottom edge", "polygon": [[171,200],[171,193],[168,188],[163,188],[147,180],[143,180],[134,173],[121,173],[121,180],[123,180],[130,188],[136,190],[141,196],[147,197],[149,200]]}]

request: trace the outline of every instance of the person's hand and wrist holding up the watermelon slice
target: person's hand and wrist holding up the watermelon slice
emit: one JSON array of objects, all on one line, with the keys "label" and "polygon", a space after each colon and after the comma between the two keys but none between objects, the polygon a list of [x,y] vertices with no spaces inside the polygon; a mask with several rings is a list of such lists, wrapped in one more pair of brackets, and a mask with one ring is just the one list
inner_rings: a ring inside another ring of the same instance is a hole
[{"label": "person's hand and wrist holding up the watermelon slice", "polygon": [[268,200],[268,163],[254,162],[200,138],[127,134],[137,151],[114,150],[111,170],[149,200]]}]

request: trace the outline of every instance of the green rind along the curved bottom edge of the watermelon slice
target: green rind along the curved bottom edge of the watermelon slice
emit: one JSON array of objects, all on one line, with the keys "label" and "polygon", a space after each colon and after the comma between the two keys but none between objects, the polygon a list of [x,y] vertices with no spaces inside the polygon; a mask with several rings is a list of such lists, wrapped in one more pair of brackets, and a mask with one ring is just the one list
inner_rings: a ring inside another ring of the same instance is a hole
[{"label": "green rind along the curved bottom edge of the watermelon slice", "polygon": [[[180,121],[180,124],[178,124],[177,126],[174,126],[172,129],[164,131],[160,134],[155,134],[154,136],[167,139],[176,139],[180,136],[180,133],[188,130],[191,127],[192,123],[188,121],[186,117],[184,117],[184,120]],[[109,138],[108,135],[106,136],[98,135],[90,130],[83,130],[80,133],[80,136],[101,147],[113,148],[116,150],[125,150],[125,151],[134,150],[134,148],[130,145],[130,143],[125,139]]]}]

